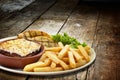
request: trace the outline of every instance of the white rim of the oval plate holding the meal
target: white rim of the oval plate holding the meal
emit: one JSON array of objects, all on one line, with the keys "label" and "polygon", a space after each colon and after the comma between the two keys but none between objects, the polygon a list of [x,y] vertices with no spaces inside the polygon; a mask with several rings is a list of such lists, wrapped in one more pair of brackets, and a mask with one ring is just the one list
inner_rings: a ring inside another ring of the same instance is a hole
[{"label": "white rim of the oval plate holding the meal", "polygon": [[[4,40],[14,39],[14,38],[16,38],[16,36],[3,38],[3,39],[0,39],[0,42],[4,41]],[[7,67],[1,66],[1,65],[0,65],[0,69],[8,71],[8,72],[24,74],[24,75],[41,75],[41,76],[62,75],[62,74],[66,74],[66,73],[79,71],[79,70],[81,70],[81,69],[83,69],[85,67],[88,67],[90,64],[92,64],[94,62],[95,58],[96,58],[96,53],[95,53],[94,49],[91,49],[90,57],[91,57],[91,60],[87,64],[85,64],[85,65],[83,65],[81,67],[75,68],[75,69],[70,69],[70,70],[65,70],[65,71],[56,71],[56,72],[24,72],[24,71],[22,71],[20,69],[7,68]]]}]

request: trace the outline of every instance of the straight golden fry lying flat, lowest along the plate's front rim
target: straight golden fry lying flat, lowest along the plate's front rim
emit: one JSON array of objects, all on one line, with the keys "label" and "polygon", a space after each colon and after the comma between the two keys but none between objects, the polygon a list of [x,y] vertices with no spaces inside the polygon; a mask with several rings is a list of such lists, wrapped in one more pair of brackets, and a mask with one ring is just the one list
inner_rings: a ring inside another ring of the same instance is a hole
[{"label": "straight golden fry lying flat, lowest along the plate's front rim", "polygon": [[61,70],[63,70],[62,67],[56,67],[56,68],[39,67],[39,68],[34,68],[34,72],[50,72],[50,71],[61,71]]}]

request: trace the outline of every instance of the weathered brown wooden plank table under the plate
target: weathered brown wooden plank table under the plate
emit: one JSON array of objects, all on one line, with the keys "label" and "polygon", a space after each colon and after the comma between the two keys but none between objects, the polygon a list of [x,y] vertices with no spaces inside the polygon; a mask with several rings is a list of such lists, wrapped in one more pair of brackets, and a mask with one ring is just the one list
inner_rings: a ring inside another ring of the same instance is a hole
[{"label": "weathered brown wooden plank table under the plate", "polygon": [[97,54],[92,65],[75,73],[46,77],[0,69],[0,80],[120,80],[120,9],[78,2],[0,0],[0,38],[30,29],[49,34],[66,32],[85,41]]}]

